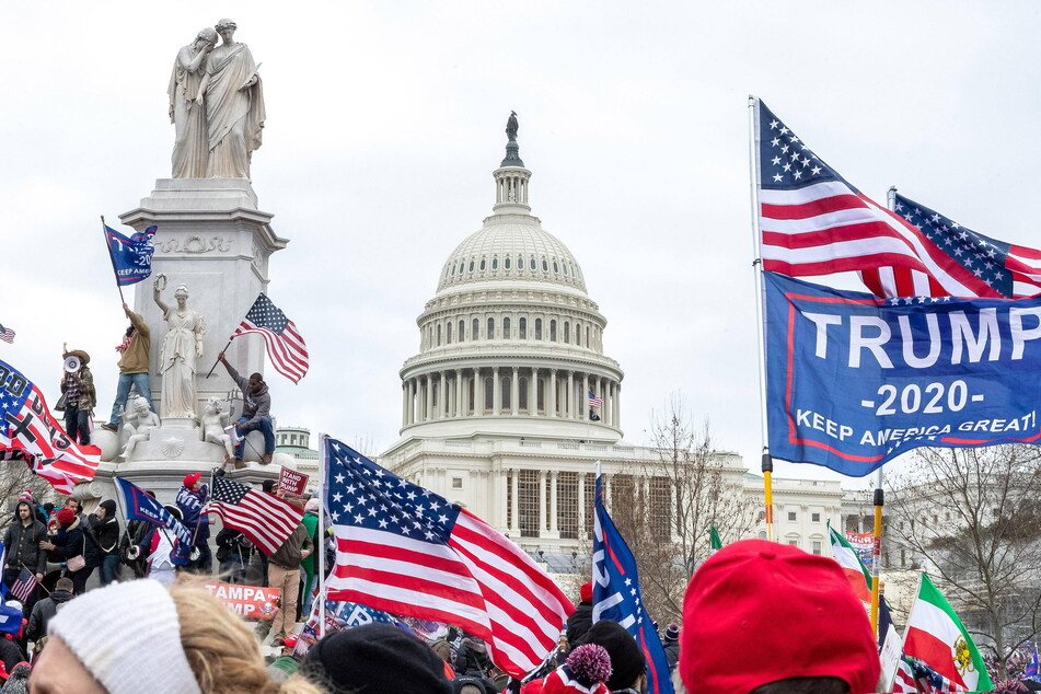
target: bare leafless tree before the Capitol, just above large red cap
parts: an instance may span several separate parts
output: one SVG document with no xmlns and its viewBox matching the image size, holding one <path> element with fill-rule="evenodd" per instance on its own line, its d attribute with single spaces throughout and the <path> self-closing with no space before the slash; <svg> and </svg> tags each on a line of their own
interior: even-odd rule
<svg viewBox="0 0 1041 694">
<path fill-rule="evenodd" d="M 636 474 L 613 475 L 609 508 L 636 556 L 644 601 L 659 622 L 680 621 L 683 593 L 709 555 L 709 533 L 739 539 L 755 524 L 743 469 L 728 469 L 708 423 L 695 426 L 679 394 L 651 414 L 651 454 Z"/>
</svg>

